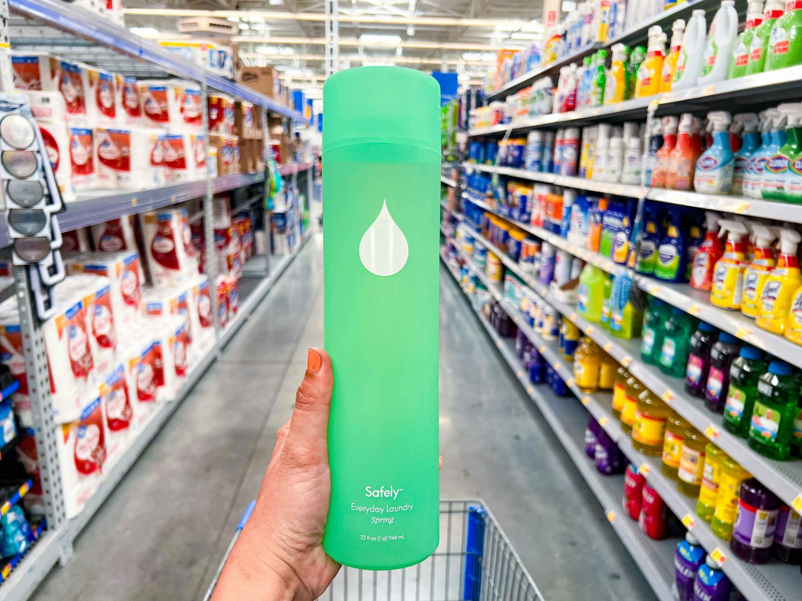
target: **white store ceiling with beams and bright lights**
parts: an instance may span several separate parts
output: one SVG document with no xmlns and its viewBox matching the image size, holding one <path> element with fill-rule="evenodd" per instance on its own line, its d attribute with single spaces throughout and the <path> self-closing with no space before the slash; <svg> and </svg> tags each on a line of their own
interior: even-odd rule
<svg viewBox="0 0 802 601">
<path fill-rule="evenodd" d="M 176 22 L 180 17 L 165 16 L 165 9 L 221 11 L 218 16 L 222 18 L 229 16 L 226 11 L 253 11 L 253 16 L 238 18 L 241 26 L 238 40 L 246 64 L 276 65 L 288 79 L 292 78 L 296 87 L 322 83 L 325 74 L 322 57 L 326 50 L 324 2 L 128 0 L 125 6 L 159 12 L 126 14 L 126 25 L 147 28 L 136 30 L 147 37 L 162 32 L 177 34 Z M 338 2 L 338 8 L 341 68 L 395 63 L 423 71 L 442 71 L 445 60 L 449 71 L 460 73 L 462 83 L 473 83 L 487 73 L 497 50 L 524 47 L 533 41 L 537 31 L 531 21 L 541 18 L 543 1 L 346 0 Z M 272 18 L 265 11 L 282 14 L 282 18 Z M 314 18 L 319 20 L 308 20 Z M 392 22 L 366 23 L 358 18 Z M 435 22 L 426 22 L 432 18 Z M 466 18 L 471 19 L 468 24 L 457 22 Z M 418 21 L 410 23 L 415 19 Z M 255 41 L 249 42 L 248 38 Z"/>
</svg>

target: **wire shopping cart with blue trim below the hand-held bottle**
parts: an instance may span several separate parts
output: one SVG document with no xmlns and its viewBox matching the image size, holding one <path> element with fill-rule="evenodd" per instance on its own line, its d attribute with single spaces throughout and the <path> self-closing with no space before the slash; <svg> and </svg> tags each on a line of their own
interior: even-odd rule
<svg viewBox="0 0 802 601">
<path fill-rule="evenodd" d="M 254 502 L 217 569 L 204 601 L 248 521 Z M 441 501 L 440 542 L 428 559 L 402 570 L 342 567 L 321 595 L 323 601 L 543 601 L 529 572 L 484 502 Z"/>
</svg>

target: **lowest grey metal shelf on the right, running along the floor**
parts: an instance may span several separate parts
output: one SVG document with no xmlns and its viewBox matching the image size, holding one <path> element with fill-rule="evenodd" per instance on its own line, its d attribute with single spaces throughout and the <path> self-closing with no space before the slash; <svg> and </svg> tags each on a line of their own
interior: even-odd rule
<svg viewBox="0 0 802 601">
<path fill-rule="evenodd" d="M 459 282 L 456 270 L 448 264 L 448 260 L 442 253 L 440 257 L 448 266 L 452 276 Z M 512 369 L 512 373 L 516 374 L 526 393 L 541 410 L 554 434 L 557 435 L 580 474 L 585 478 L 590 490 L 602 505 L 607 519 L 626 549 L 630 551 L 635 563 L 646 577 L 646 581 L 654 590 L 654 594 L 660 601 L 673 601 L 671 595 L 671 583 L 674 580 L 673 557 L 678 539 L 653 540 L 642 532 L 638 522 L 622 512 L 623 476 L 621 474 L 613 476 L 600 474 L 593 461 L 585 455 L 583 448 L 585 426 L 587 425 L 585 409 L 581 404 L 572 402 L 568 398 L 557 397 L 548 385 L 531 384 L 529 374 L 525 372 L 523 365 L 515 355 L 514 343 L 500 337 L 483 315 L 480 313 L 476 313 L 476 315 L 496 348 L 499 349 L 501 356 Z"/>
</svg>

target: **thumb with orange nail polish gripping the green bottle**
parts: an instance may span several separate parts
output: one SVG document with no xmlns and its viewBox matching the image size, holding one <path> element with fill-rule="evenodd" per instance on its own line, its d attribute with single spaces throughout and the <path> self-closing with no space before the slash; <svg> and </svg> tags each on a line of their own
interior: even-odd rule
<svg viewBox="0 0 802 601">
<path fill-rule="evenodd" d="M 334 376 L 323 349 L 309 349 L 306 374 L 295 393 L 295 410 L 282 456 L 296 465 L 328 462 L 328 429 Z"/>
</svg>

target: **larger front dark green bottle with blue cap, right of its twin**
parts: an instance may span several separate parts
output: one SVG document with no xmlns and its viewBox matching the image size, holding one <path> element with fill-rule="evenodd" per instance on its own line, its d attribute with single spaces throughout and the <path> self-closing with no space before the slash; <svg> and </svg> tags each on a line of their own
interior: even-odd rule
<svg viewBox="0 0 802 601">
<path fill-rule="evenodd" d="M 799 403 L 799 383 L 785 361 L 768 365 L 757 383 L 749 427 L 749 446 L 772 459 L 788 459 Z"/>
</svg>

